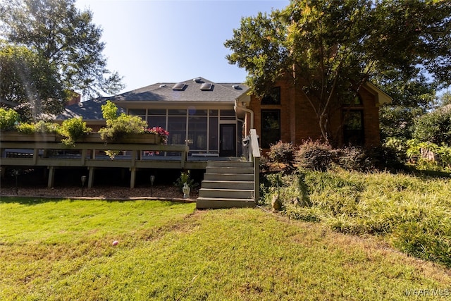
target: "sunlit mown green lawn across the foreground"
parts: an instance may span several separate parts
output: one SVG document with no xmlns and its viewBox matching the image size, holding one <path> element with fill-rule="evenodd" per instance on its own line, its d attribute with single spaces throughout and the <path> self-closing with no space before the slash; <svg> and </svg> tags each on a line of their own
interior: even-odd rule
<svg viewBox="0 0 451 301">
<path fill-rule="evenodd" d="M 0 300 L 411 300 L 451 271 L 261 209 L 2 198 Z M 118 240 L 117 246 L 111 245 Z M 433 297 L 426 296 L 426 299 Z"/>
</svg>

